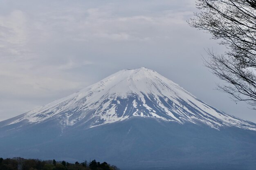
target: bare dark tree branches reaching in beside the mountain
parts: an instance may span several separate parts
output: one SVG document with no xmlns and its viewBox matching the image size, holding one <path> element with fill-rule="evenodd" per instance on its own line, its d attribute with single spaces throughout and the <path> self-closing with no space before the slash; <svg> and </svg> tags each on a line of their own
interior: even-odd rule
<svg viewBox="0 0 256 170">
<path fill-rule="evenodd" d="M 200 12 L 188 23 L 227 48 L 220 55 L 209 50 L 204 59 L 204 65 L 226 82 L 218 89 L 256 106 L 256 0 L 197 0 L 197 8 Z"/>
</svg>

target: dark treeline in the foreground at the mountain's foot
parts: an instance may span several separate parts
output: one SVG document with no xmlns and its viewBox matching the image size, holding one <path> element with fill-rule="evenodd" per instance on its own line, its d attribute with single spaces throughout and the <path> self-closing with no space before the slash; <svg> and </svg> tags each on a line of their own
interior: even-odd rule
<svg viewBox="0 0 256 170">
<path fill-rule="evenodd" d="M 97 162 L 95 159 L 91 162 L 69 163 L 66 161 L 39 159 L 0 158 L 0 170 L 119 170 L 116 166 L 103 162 Z"/>
</svg>

